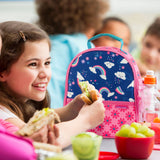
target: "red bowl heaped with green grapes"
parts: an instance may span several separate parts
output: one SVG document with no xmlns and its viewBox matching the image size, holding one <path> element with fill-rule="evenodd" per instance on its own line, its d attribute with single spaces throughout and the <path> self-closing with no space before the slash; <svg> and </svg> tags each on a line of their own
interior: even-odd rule
<svg viewBox="0 0 160 160">
<path fill-rule="evenodd" d="M 125 124 L 115 134 L 117 151 L 124 159 L 147 159 L 153 150 L 154 135 L 143 123 Z"/>
</svg>

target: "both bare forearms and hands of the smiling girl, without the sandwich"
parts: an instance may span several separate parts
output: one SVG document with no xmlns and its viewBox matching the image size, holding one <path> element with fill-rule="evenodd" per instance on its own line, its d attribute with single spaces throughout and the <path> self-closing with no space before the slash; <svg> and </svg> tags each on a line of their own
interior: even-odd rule
<svg viewBox="0 0 160 160">
<path fill-rule="evenodd" d="M 83 101 L 80 94 L 65 107 L 56 109 L 62 120 L 61 123 L 56 124 L 60 131 L 57 140 L 62 148 L 71 144 L 71 137 L 97 127 L 103 122 L 105 108 L 102 103 L 102 96 L 98 95 L 97 98 L 88 105 Z"/>
</svg>

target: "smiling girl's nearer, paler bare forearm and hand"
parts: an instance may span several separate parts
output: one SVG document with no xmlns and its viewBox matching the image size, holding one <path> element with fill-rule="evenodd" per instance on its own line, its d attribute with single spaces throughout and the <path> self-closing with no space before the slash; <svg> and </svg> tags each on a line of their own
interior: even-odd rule
<svg viewBox="0 0 160 160">
<path fill-rule="evenodd" d="M 75 119 L 56 124 L 60 131 L 58 143 L 62 148 L 67 147 L 71 144 L 71 137 L 98 126 L 103 122 L 104 116 L 105 108 L 101 99 L 91 105 L 84 105 Z"/>
</svg>

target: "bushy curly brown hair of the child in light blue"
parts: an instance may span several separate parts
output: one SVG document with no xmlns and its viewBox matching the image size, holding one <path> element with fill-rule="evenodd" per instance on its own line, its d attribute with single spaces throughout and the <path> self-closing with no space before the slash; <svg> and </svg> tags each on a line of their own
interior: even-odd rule
<svg viewBox="0 0 160 160">
<path fill-rule="evenodd" d="M 107 0 L 36 0 L 38 25 L 48 34 L 85 33 L 101 27 Z"/>
</svg>

